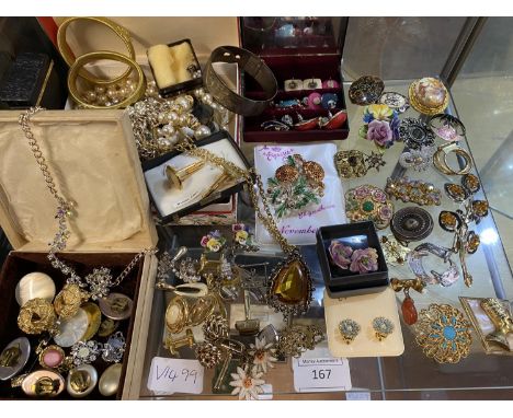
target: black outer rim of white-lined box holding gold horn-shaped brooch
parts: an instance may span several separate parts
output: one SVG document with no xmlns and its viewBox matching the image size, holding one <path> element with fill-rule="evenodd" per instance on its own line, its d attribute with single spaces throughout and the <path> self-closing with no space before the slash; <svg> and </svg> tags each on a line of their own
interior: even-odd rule
<svg viewBox="0 0 513 418">
<path fill-rule="evenodd" d="M 231 138 L 230 133 L 228 131 L 226 131 L 226 130 L 215 132 L 215 133 L 210 135 L 207 138 L 203 138 L 201 140 L 197 140 L 197 141 L 195 141 L 195 144 L 198 148 L 201 148 L 201 147 L 208 146 L 208 144 L 212 144 L 212 143 L 215 143 L 217 141 L 225 140 L 225 139 L 227 139 L 229 141 L 229 143 L 231 144 L 233 151 L 237 152 L 240 160 L 246 165 L 246 169 L 249 170 L 250 169 L 250 163 L 246 159 L 246 156 L 242 153 L 242 151 L 240 150 L 240 148 L 233 141 L 233 138 Z M 160 156 L 158 156 L 156 159 L 146 161 L 146 162 L 142 163 L 142 170 L 144 170 L 145 173 L 147 173 L 148 171 L 150 171 L 152 169 L 156 169 L 159 165 L 164 164 L 167 161 L 169 161 L 169 160 L 171 160 L 174 156 L 180 155 L 180 154 L 181 154 L 181 152 L 179 152 L 179 151 L 172 151 L 172 152 L 168 152 L 167 154 L 160 155 Z M 191 175 L 191 179 L 194 181 L 194 174 Z M 148 178 L 147 178 L 147 182 L 148 182 Z M 184 207 L 182 209 L 179 209 L 179 210 L 176 210 L 176 211 L 174 211 L 172 213 L 169 213 L 169 214 L 164 214 L 164 213 L 159 212 L 158 206 L 156 205 L 155 197 L 153 197 L 151 191 L 149 193 L 149 196 L 150 196 L 151 201 L 153 202 L 153 206 L 155 206 L 155 208 L 156 208 L 156 210 L 158 212 L 158 216 L 160 217 L 161 222 L 162 223 L 168 223 L 168 222 L 176 221 L 180 217 L 183 217 L 185 214 L 196 212 L 196 211 L 198 211 L 200 209 L 202 209 L 202 208 L 204 208 L 206 206 L 209 206 L 209 205 L 216 204 L 218 201 L 225 200 L 227 197 L 230 197 L 231 195 L 240 191 L 243 188 L 243 185 L 244 185 L 243 181 L 239 181 L 239 183 L 236 183 L 236 184 L 233 184 L 233 185 L 231 185 L 229 187 L 225 187 L 221 190 L 214 191 L 210 195 L 203 198 L 202 200 L 193 202 L 192 205 L 186 206 L 186 207 Z"/>
</svg>

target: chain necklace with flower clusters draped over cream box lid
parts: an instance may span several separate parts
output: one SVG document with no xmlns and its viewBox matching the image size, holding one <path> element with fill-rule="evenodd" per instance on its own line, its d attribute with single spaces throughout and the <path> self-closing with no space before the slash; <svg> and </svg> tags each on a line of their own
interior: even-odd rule
<svg viewBox="0 0 513 418">
<path fill-rule="evenodd" d="M 57 200 L 56 219 L 59 223 L 59 230 L 54 236 L 53 242 L 49 243 L 50 249 L 48 252 L 47 258 L 54 268 L 59 269 L 65 276 L 68 277 L 66 280 L 67 285 L 55 299 L 56 311 L 59 311 L 57 313 L 60 316 L 67 317 L 72 316 L 72 314 L 78 311 L 78 307 L 80 307 L 80 304 L 83 300 L 89 298 L 96 300 L 109 295 L 110 289 L 118 286 L 145 255 L 155 254 L 157 251 L 155 248 L 147 248 L 138 253 L 115 279 L 112 277 L 111 270 L 106 267 L 94 268 L 92 274 L 86 276 L 86 278 L 82 279 L 77 275 L 73 267 L 57 257 L 57 253 L 62 252 L 67 246 L 67 242 L 70 236 L 68 219 L 73 216 L 76 205 L 65 199 L 57 191 L 57 186 L 55 185 L 46 159 L 41 151 L 39 144 L 37 143 L 34 133 L 32 132 L 30 125 L 31 117 L 41 111 L 43 111 L 43 107 L 31 107 L 20 115 L 19 124 L 26 139 L 29 139 L 29 146 L 31 147 L 37 165 L 43 173 L 46 187 L 50 191 L 52 196 Z M 81 290 L 88 286 L 88 292 Z M 72 303 L 68 303 L 70 301 L 72 301 Z"/>
</svg>

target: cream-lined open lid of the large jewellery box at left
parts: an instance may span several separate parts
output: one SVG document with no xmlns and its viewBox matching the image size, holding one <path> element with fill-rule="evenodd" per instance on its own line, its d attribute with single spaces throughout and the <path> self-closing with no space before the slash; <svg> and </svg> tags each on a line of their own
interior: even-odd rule
<svg viewBox="0 0 513 418">
<path fill-rule="evenodd" d="M 0 227 L 12 247 L 47 251 L 58 230 L 47 189 L 18 123 L 0 112 Z M 124 111 L 44 111 L 31 118 L 58 193 L 76 202 L 67 251 L 138 252 L 157 243 L 132 125 Z"/>
</svg>

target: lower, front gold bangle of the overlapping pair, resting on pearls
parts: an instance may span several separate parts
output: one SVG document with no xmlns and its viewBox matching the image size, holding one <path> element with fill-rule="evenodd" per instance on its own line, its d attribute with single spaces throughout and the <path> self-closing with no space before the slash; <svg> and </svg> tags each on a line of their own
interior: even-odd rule
<svg viewBox="0 0 513 418">
<path fill-rule="evenodd" d="M 82 105 L 83 107 L 87 107 L 87 108 L 94 108 L 94 109 L 104 109 L 104 108 L 106 108 L 106 106 L 98 106 L 98 105 L 87 103 L 86 101 L 82 100 L 81 94 L 79 93 L 79 91 L 77 89 L 77 78 L 78 78 L 78 76 L 80 73 L 80 69 L 86 63 L 88 63 L 90 61 L 99 60 L 99 59 L 111 59 L 113 61 L 118 61 L 118 62 L 126 63 L 127 66 L 130 67 L 130 68 L 128 68 L 128 73 L 132 70 L 134 70 L 134 71 L 137 72 L 137 77 L 138 77 L 137 86 L 134 90 L 134 93 L 132 95 L 129 95 L 128 97 L 126 97 L 125 100 L 123 100 L 122 102 L 119 102 L 119 103 L 117 103 L 115 105 L 109 106 L 107 108 L 124 108 L 124 107 L 127 107 L 130 104 L 137 102 L 140 97 L 142 97 L 142 95 L 145 94 L 145 90 L 146 90 L 146 86 L 145 86 L 146 79 L 145 79 L 145 74 L 144 74 L 142 69 L 140 68 L 140 66 L 136 61 L 134 61 L 132 58 L 128 58 L 127 56 L 125 56 L 123 54 L 107 51 L 107 50 L 99 50 L 96 53 L 89 53 L 89 54 L 84 54 L 84 55 L 80 56 L 79 58 L 77 58 L 77 60 L 73 62 L 73 65 L 69 69 L 68 90 L 69 90 L 69 94 L 71 95 L 71 97 L 73 98 L 75 102 L 77 102 L 78 104 L 80 104 L 80 105 Z M 115 79 L 115 80 L 117 80 L 117 79 Z M 113 83 L 113 82 L 114 82 L 114 80 L 109 80 L 109 83 Z"/>
</svg>

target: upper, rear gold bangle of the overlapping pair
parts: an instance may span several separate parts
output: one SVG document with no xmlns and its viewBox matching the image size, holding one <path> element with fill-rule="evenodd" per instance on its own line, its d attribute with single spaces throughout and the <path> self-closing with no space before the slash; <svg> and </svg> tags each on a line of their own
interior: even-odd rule
<svg viewBox="0 0 513 418">
<path fill-rule="evenodd" d="M 125 44 L 126 48 L 128 49 L 128 54 L 126 56 L 128 56 L 129 58 L 135 60 L 134 45 L 132 45 L 130 35 L 129 35 L 128 31 L 125 27 L 119 26 L 117 23 L 115 23 L 115 22 L 113 22 L 113 21 L 111 21 L 110 19 L 106 19 L 106 18 L 91 18 L 91 16 L 80 18 L 80 16 L 78 16 L 78 18 L 69 18 L 69 19 L 65 20 L 60 24 L 60 26 L 59 26 L 59 28 L 57 31 L 57 47 L 59 48 L 60 55 L 62 56 L 64 60 L 66 61 L 66 63 L 69 67 L 71 67 L 75 63 L 77 58 L 75 57 L 73 51 L 71 50 L 68 43 L 66 42 L 66 32 L 67 32 L 68 26 L 70 25 L 70 23 L 76 22 L 76 21 L 95 22 L 95 23 L 100 23 L 102 25 L 107 26 Z M 117 76 L 116 78 L 111 79 L 111 80 L 101 79 L 101 78 L 94 76 L 93 73 L 91 73 L 90 71 L 88 71 L 86 69 L 81 69 L 79 74 L 80 74 L 80 77 L 82 77 L 83 79 L 86 79 L 86 80 L 88 80 L 88 81 L 90 81 L 92 83 L 110 84 L 110 83 L 115 83 L 117 81 L 121 81 L 121 80 L 125 79 L 129 73 L 130 73 L 130 69 L 128 68 L 125 72 L 123 72 L 123 74 Z"/>
</svg>

